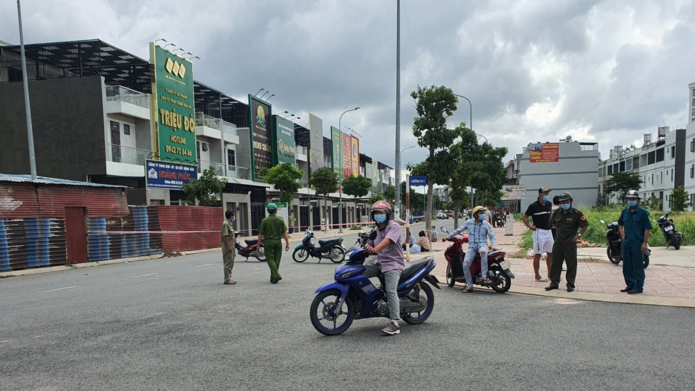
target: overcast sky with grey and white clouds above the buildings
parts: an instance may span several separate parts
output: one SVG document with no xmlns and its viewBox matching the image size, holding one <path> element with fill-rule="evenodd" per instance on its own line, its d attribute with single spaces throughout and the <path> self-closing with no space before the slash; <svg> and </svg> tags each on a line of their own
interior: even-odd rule
<svg viewBox="0 0 695 391">
<path fill-rule="evenodd" d="M 165 38 L 200 57 L 195 78 L 273 111 L 361 135 L 361 151 L 395 156 L 396 1 L 22 0 L 25 43 L 99 38 L 147 59 Z M 0 40 L 19 44 L 17 8 L 0 2 Z M 657 125 L 687 124 L 695 81 L 695 1 L 401 1 L 402 148 L 415 145 L 417 85 L 473 102 L 473 129 L 521 153 L 529 142 L 641 145 Z M 268 96 L 266 96 L 268 97 Z M 453 126 L 468 122 L 466 101 Z M 423 160 L 415 148 L 404 163 Z"/>
</svg>

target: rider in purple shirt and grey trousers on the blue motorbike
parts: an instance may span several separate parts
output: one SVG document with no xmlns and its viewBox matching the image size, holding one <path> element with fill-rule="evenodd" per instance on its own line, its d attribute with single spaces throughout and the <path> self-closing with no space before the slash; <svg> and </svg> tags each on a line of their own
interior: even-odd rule
<svg viewBox="0 0 695 391">
<path fill-rule="evenodd" d="M 367 264 L 364 276 L 367 278 L 384 276 L 386 301 L 389 304 L 391 322 L 382 331 L 389 335 L 400 333 L 398 319 L 400 318 L 400 301 L 398 299 L 398 281 L 405 268 L 402 251 L 400 225 L 391 219 L 391 206 L 386 201 L 377 201 L 370 209 L 370 215 L 377 223 L 377 238 L 369 240 L 365 249 L 377 254 L 374 260 Z"/>
</svg>

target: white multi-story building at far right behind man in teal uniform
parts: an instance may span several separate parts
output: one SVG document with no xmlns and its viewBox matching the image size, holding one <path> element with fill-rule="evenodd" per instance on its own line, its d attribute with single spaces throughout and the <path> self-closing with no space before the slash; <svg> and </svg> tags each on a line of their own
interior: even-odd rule
<svg viewBox="0 0 695 391">
<path fill-rule="evenodd" d="M 684 185 L 685 129 L 671 131 L 669 126 L 657 129 L 657 138 L 644 134 L 644 145 L 624 148 L 616 145 L 610 157 L 598 165 L 598 193 L 605 203 L 618 202 L 617 194 L 605 194 L 605 183 L 619 172 L 639 174 L 642 185 L 639 192 L 643 200 L 655 197 L 664 210 L 671 209 L 669 196 L 673 188 Z"/>
</svg>

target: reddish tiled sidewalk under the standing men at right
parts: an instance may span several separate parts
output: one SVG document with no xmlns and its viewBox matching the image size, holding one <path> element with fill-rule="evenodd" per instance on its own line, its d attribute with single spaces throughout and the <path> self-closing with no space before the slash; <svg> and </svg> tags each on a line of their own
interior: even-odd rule
<svg viewBox="0 0 695 391">
<path fill-rule="evenodd" d="M 494 228 L 495 235 L 499 248 L 507 250 L 507 254 L 518 252 L 518 242 L 521 241 L 521 235 L 526 230 L 523 224 L 514 224 L 514 235 L 505 236 L 505 228 Z M 436 268 L 432 274 L 438 276 L 441 282 L 445 281 L 446 260 L 443 251 L 448 247 L 449 243 L 437 242 L 433 244 L 433 252 L 436 259 Z M 466 247 L 464 247 L 464 250 Z M 664 299 L 695 299 L 695 247 L 681 247 L 680 250 L 666 249 L 665 247 L 655 247 L 652 249 L 651 264 L 645 270 L 646 281 L 644 286 L 644 294 L 642 297 L 652 297 L 651 299 L 626 299 L 628 295 L 620 293 L 619 290 L 625 288 L 623 280 L 622 263 L 618 266 L 613 265 L 607 260 L 605 247 L 584 247 L 578 251 L 584 257 L 592 258 L 591 260 L 580 259 L 577 270 L 576 291 L 572 293 L 565 292 L 564 294 L 573 297 L 576 292 L 591 292 L 589 298 L 582 297 L 582 294 L 575 294 L 575 299 L 588 299 L 602 301 L 619 301 L 619 302 L 640 302 L 644 303 L 660 303 L 656 298 Z M 512 264 L 512 272 L 516 278 L 512 280 L 512 292 L 515 288 L 520 288 L 527 294 L 539 294 L 543 296 L 555 297 L 558 296 L 558 291 L 546 292 L 543 288 L 548 286 L 547 282 L 537 282 L 534 280 L 533 260 L 532 258 L 507 258 Z M 541 276 L 546 276 L 546 263 L 544 258 L 541 259 Z M 563 273 L 564 276 L 564 273 Z M 561 287 L 564 288 L 564 283 L 561 281 Z M 521 289 L 524 288 L 524 289 Z M 531 290 L 529 290 L 531 289 Z M 481 288 L 485 290 L 485 288 Z M 598 295 L 597 295 L 598 294 Z M 680 302 L 676 300 L 677 302 Z M 663 300 L 663 305 L 671 305 Z M 692 301 L 695 306 L 695 301 Z"/>
</svg>

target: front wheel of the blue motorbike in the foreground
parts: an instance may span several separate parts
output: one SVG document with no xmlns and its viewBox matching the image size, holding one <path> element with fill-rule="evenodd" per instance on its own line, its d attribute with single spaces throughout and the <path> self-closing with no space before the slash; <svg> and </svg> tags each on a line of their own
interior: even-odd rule
<svg viewBox="0 0 695 391">
<path fill-rule="evenodd" d="M 321 292 L 311 301 L 309 318 L 316 331 L 324 335 L 343 333 L 354 320 L 354 305 L 352 300 L 345 299 L 340 315 L 334 315 L 341 299 L 341 291 L 337 289 Z"/>
</svg>

